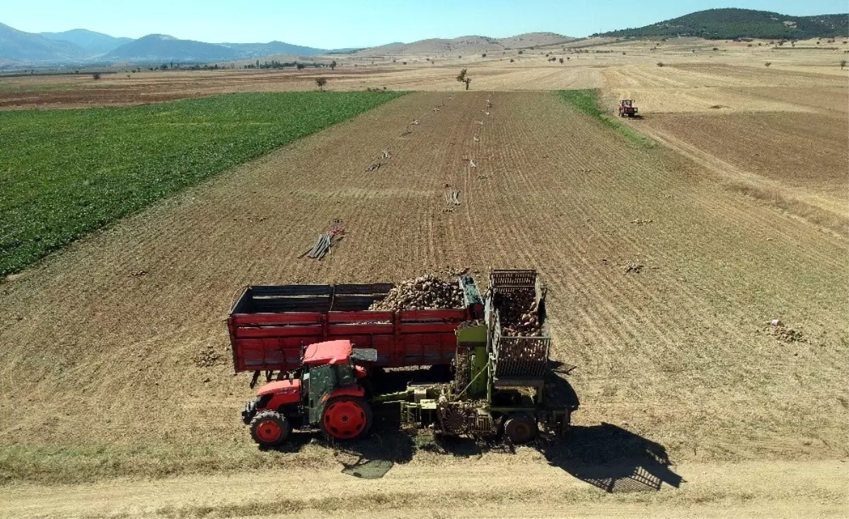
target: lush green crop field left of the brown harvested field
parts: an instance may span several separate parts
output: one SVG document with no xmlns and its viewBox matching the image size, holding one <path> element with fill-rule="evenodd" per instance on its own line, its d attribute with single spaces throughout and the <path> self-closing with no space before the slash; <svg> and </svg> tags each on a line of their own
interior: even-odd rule
<svg viewBox="0 0 849 519">
<path fill-rule="evenodd" d="M 247 93 L 130 108 L 0 112 L 0 275 L 401 95 Z"/>
</svg>

